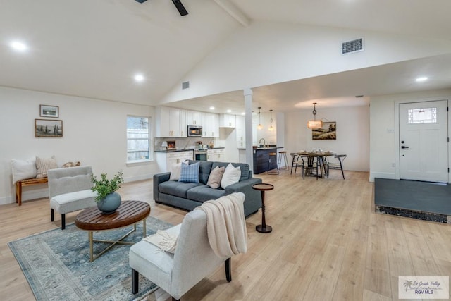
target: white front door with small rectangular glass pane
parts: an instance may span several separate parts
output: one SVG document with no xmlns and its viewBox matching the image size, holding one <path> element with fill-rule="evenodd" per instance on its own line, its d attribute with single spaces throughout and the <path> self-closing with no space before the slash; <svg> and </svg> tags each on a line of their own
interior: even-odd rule
<svg viewBox="0 0 451 301">
<path fill-rule="evenodd" d="M 400 178 L 448 182 L 447 100 L 400 104 Z"/>
</svg>

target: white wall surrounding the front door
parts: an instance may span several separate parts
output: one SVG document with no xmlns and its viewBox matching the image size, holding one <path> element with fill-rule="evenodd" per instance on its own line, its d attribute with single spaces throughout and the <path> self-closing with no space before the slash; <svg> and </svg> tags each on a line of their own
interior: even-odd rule
<svg viewBox="0 0 451 301">
<path fill-rule="evenodd" d="M 451 99 L 451 90 L 433 90 L 405 94 L 372 97 L 370 101 L 370 180 L 374 178 L 399 179 L 399 157 L 397 143 L 399 126 L 396 122 L 395 105 L 399 102 L 423 102 Z M 450 132 L 448 111 L 448 133 Z M 448 147 L 448 162 L 451 159 Z M 448 164 L 449 166 L 449 164 Z"/>
</svg>

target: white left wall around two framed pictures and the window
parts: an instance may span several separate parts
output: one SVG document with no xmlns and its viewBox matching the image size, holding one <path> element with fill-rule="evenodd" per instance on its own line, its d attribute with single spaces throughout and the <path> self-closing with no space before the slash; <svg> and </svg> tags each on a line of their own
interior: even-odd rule
<svg viewBox="0 0 451 301">
<path fill-rule="evenodd" d="M 35 137 L 35 118 L 42 118 L 39 104 L 59 106 L 63 137 Z M 0 204 L 15 202 L 11 159 L 54 155 L 60 166 L 80 161 L 91 165 L 97 175 L 112 175 L 122 169 L 126 181 L 151 178 L 155 164 L 125 164 L 126 117 L 153 114 L 152 106 L 0 87 Z M 47 185 L 23 191 L 24 200 L 47 195 Z"/>
</svg>

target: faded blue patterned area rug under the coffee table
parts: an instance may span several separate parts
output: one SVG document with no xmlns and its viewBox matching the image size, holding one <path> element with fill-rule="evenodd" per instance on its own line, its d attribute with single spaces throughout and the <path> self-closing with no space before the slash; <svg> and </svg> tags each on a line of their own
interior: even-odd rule
<svg viewBox="0 0 451 301">
<path fill-rule="evenodd" d="M 147 218 L 147 235 L 170 223 Z M 94 239 L 117 240 L 132 226 L 94 232 Z M 142 239 L 142 222 L 125 241 Z M 94 254 L 109 244 L 94 243 Z M 87 231 L 73 223 L 60 228 L 8 242 L 37 300 L 140 300 L 156 290 L 156 285 L 140 277 L 140 292 L 131 293 L 130 245 L 115 245 L 94 262 L 89 262 Z"/>
</svg>

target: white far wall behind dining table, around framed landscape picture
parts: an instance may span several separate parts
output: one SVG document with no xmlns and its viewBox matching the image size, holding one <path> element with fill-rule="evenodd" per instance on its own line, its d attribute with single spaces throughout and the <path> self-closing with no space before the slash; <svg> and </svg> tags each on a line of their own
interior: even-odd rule
<svg viewBox="0 0 451 301">
<path fill-rule="evenodd" d="M 285 150 L 290 153 L 321 148 L 347 154 L 346 170 L 369 171 L 369 107 L 316 107 L 316 111 L 317 119 L 337 122 L 337 140 L 312 140 L 307 128 L 307 121 L 313 118 L 311 111 L 290 112 L 285 113 Z"/>
</svg>

